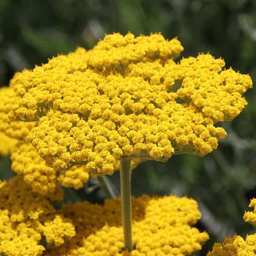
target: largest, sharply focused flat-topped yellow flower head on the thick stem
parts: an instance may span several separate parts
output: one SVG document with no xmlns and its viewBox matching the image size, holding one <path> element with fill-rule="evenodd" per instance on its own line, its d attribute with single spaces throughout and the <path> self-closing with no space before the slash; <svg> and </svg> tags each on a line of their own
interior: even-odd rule
<svg viewBox="0 0 256 256">
<path fill-rule="evenodd" d="M 210 54 L 174 62 L 182 50 L 161 34 L 106 35 L 92 50 L 16 73 L 9 118 L 39 121 L 27 138 L 55 170 L 112 174 L 125 157 L 204 156 L 226 136 L 214 125 L 247 104 L 252 80 Z"/>
</svg>

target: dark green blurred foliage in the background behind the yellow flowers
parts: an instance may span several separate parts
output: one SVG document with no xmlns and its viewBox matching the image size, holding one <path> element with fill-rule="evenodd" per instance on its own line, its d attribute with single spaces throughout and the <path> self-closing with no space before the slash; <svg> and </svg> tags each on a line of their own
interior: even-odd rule
<svg viewBox="0 0 256 256">
<path fill-rule="evenodd" d="M 129 30 L 136 36 L 178 36 L 182 56 L 209 51 L 216 58 L 222 56 L 227 67 L 256 80 L 255 0 L 0 0 L 0 84 L 8 85 L 14 72 L 45 63 L 58 53 L 67 54 L 77 46 L 90 49 L 105 33 Z M 135 196 L 172 193 L 198 201 L 198 228 L 211 237 L 198 255 L 206 255 L 214 241 L 255 232 L 242 218 L 256 196 L 256 92 L 249 90 L 245 96 L 249 104 L 242 114 L 218 124 L 228 136 L 217 150 L 204 158 L 178 155 L 167 163 L 144 162 L 132 172 Z M 117 195 L 118 175 L 109 177 Z M 2 157 L 0 178 L 10 176 L 10 160 Z M 66 202 L 104 199 L 95 180 L 65 192 Z"/>
</svg>

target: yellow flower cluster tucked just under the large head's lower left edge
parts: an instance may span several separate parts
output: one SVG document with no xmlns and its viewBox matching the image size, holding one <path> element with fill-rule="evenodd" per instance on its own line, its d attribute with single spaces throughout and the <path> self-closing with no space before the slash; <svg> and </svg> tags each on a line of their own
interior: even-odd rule
<svg viewBox="0 0 256 256">
<path fill-rule="evenodd" d="M 12 170 L 22 175 L 24 182 L 29 184 L 34 192 L 49 198 L 54 196 L 52 200 L 62 200 L 60 186 L 78 189 L 89 179 L 84 166 L 74 166 L 59 175 L 53 168 L 46 166 L 44 159 L 38 156 L 30 143 L 17 144 L 12 150 L 11 160 Z"/>
</svg>

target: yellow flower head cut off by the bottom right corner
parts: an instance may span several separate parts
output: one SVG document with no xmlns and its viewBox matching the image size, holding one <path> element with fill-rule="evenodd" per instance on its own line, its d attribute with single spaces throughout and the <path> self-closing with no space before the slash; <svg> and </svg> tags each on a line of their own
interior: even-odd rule
<svg viewBox="0 0 256 256">
<path fill-rule="evenodd" d="M 249 204 L 253 212 L 244 213 L 244 221 L 256 226 L 256 199 L 253 198 Z M 256 234 L 247 235 L 244 240 L 241 236 L 234 235 L 226 238 L 223 244 L 215 243 L 212 252 L 207 256 L 256 256 Z"/>
</svg>

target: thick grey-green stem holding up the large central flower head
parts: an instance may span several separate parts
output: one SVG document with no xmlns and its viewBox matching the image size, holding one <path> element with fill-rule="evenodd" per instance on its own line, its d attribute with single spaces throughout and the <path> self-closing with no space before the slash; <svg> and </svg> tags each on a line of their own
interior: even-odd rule
<svg viewBox="0 0 256 256">
<path fill-rule="evenodd" d="M 124 250 L 131 252 L 132 246 L 132 200 L 131 200 L 131 160 L 120 159 L 120 184 L 122 202 L 122 224 L 124 231 Z"/>
</svg>

